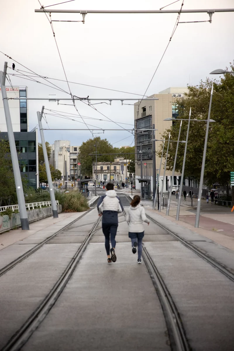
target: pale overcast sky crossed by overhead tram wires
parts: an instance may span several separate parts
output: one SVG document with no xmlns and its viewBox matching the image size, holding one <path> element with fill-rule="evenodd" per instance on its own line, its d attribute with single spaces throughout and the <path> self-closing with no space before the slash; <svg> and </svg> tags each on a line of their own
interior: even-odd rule
<svg viewBox="0 0 234 351">
<path fill-rule="evenodd" d="M 62 0 L 61 0 L 62 1 Z M 44 0 L 43 5 L 52 5 L 59 1 Z M 53 6 L 55 9 L 159 9 L 170 4 L 170 0 L 119 0 L 118 2 L 79 1 Z M 165 9 L 179 9 L 181 1 Z M 232 8 L 233 0 L 185 0 L 183 9 Z M 37 74 L 65 80 L 59 54 L 55 45 L 49 21 L 44 13 L 35 13 L 40 8 L 37 0 L 11 0 L 1 5 L 0 22 L 2 28 L 0 50 L 13 60 L 0 53 L 0 69 L 4 61 L 11 66 L 14 60 Z M 181 14 L 180 21 L 208 20 L 208 14 Z M 177 14 L 87 14 L 82 22 L 53 22 L 62 62 L 69 81 L 95 85 L 109 89 L 143 94 L 152 78 L 162 53 L 171 36 Z M 80 14 L 52 14 L 54 20 L 81 20 Z M 229 65 L 234 59 L 234 12 L 215 13 L 212 24 L 179 24 L 165 56 L 147 91 L 147 95 L 158 93 L 169 86 L 198 84 L 206 77 L 213 78 L 209 72 Z M 16 69 L 27 71 L 16 64 Z M 8 73 L 13 73 L 8 69 Z M 27 74 L 27 73 L 25 73 Z M 23 78 L 11 77 L 15 86 L 28 86 L 28 97 L 68 97 L 66 93 L 56 91 L 45 85 Z M 218 78 L 219 76 L 215 76 Z M 35 78 L 37 79 L 37 78 Z M 41 80 L 43 81 L 43 80 Z M 51 80 L 65 91 L 66 82 Z M 47 84 L 47 82 L 45 82 Z M 71 92 L 79 97 L 126 98 L 135 97 L 127 93 L 118 93 L 77 84 L 69 84 Z M 61 101 L 62 102 L 62 101 Z M 96 101 L 97 102 L 97 101 Z M 72 104 L 72 102 L 62 102 Z M 130 102 L 133 103 L 133 102 Z M 29 101 L 29 130 L 37 124 L 36 111 L 42 104 L 45 108 L 77 114 L 74 106 L 57 105 L 48 101 Z M 82 102 L 76 103 L 82 116 L 107 119 L 93 108 Z M 95 107 L 109 119 L 129 123 L 133 126 L 133 106 L 112 102 Z M 49 113 L 49 111 L 46 111 Z M 47 115 L 50 128 L 86 128 L 81 118 L 70 121 Z M 105 128 L 120 128 L 113 122 L 85 119 L 86 123 Z M 43 122 L 44 127 L 46 123 Z M 131 125 L 123 127 L 131 128 Z M 90 127 L 90 126 L 89 126 Z M 91 128 L 91 127 L 90 127 Z M 114 146 L 130 145 L 133 136 L 126 131 L 97 134 L 106 137 Z M 119 141 L 120 139 L 126 138 Z M 71 145 L 80 145 L 92 137 L 89 131 L 45 131 L 49 143 L 54 140 L 71 140 Z M 39 137 L 40 138 L 40 137 Z M 118 142 L 119 141 L 119 142 Z M 118 143 L 116 143 L 118 142 Z M 134 145 L 134 144 L 133 144 Z"/>
</svg>

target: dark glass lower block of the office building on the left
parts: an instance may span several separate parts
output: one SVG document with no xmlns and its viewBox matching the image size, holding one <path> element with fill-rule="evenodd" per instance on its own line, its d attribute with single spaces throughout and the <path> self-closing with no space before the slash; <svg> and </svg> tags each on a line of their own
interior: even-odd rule
<svg viewBox="0 0 234 351">
<path fill-rule="evenodd" d="M 0 138 L 8 140 L 1 132 Z M 14 132 L 21 177 L 27 177 L 29 185 L 36 188 L 36 132 Z"/>
</svg>

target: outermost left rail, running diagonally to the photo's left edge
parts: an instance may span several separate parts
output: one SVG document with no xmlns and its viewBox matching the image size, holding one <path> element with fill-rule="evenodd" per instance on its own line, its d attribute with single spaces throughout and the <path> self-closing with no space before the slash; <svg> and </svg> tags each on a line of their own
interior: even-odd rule
<svg viewBox="0 0 234 351">
<path fill-rule="evenodd" d="M 24 260 L 25 258 L 27 258 L 28 256 L 30 256 L 33 252 L 37 251 L 38 249 L 40 249 L 40 247 L 42 247 L 44 244 L 46 244 L 49 240 L 53 239 L 56 235 L 58 235 L 59 233 L 63 232 L 65 229 L 67 229 L 70 225 L 72 225 L 73 223 L 75 223 L 76 221 L 78 221 L 80 218 L 84 217 L 87 213 L 89 213 L 90 211 L 92 211 L 93 208 L 91 208 L 90 210 L 88 210 L 86 213 L 83 213 L 79 218 L 74 219 L 71 223 L 67 224 L 65 227 L 63 227 L 62 229 L 60 229 L 58 232 L 52 234 L 50 237 L 46 238 L 45 240 L 41 241 L 41 243 L 39 243 L 38 245 L 34 246 L 32 249 L 28 250 L 27 252 L 25 252 L 24 254 L 22 254 L 20 257 L 16 258 L 14 261 L 12 261 L 11 263 L 9 263 L 8 265 L 6 265 L 5 267 L 3 267 L 2 269 L 0 269 L 0 277 L 2 276 L 2 274 L 6 273 L 7 271 L 9 271 L 10 269 L 12 269 L 16 264 L 20 263 L 22 260 Z"/>
</svg>

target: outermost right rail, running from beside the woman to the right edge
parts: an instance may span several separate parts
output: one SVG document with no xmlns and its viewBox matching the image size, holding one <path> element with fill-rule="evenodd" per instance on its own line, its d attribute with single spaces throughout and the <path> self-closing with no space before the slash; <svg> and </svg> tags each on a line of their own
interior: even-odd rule
<svg viewBox="0 0 234 351">
<path fill-rule="evenodd" d="M 221 273 L 223 273 L 226 277 L 228 277 L 230 280 L 232 280 L 232 282 L 234 282 L 234 273 L 232 273 L 231 271 L 229 271 L 225 266 L 223 266 L 222 264 L 220 264 L 219 262 L 217 262 L 215 259 L 213 259 L 212 257 L 208 256 L 207 254 L 203 253 L 202 251 L 200 251 L 199 249 L 197 249 L 195 246 L 193 246 L 192 244 L 188 243 L 186 240 L 180 238 L 177 234 L 173 233 L 171 230 L 169 230 L 168 228 L 166 228 L 163 224 L 158 223 L 154 218 L 148 216 L 148 214 L 146 214 L 146 217 L 148 217 L 150 220 L 152 220 L 152 222 L 154 222 L 156 225 L 158 225 L 159 227 L 161 227 L 162 229 L 164 229 L 166 232 L 168 232 L 168 234 L 170 234 L 172 237 L 174 237 L 176 240 L 180 241 L 180 243 L 182 243 L 183 245 L 185 245 L 188 249 L 192 250 L 193 252 L 195 252 L 199 257 L 203 258 L 205 261 L 207 261 L 210 265 L 212 265 L 213 267 L 215 267 L 216 269 L 218 269 Z"/>
</svg>

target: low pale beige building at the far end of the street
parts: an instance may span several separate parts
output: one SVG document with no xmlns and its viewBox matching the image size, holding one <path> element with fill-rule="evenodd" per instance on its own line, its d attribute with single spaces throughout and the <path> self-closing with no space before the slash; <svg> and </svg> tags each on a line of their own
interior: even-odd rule
<svg viewBox="0 0 234 351">
<path fill-rule="evenodd" d="M 114 162 L 98 162 L 97 163 L 97 182 L 102 182 L 106 179 L 106 182 L 114 181 L 119 183 L 127 183 L 126 178 L 129 178 L 129 172 L 127 171 L 128 162 L 131 160 L 125 160 L 123 158 L 116 158 Z M 93 179 L 96 179 L 96 163 L 93 162 Z M 129 178 L 129 184 L 131 177 Z"/>
</svg>

